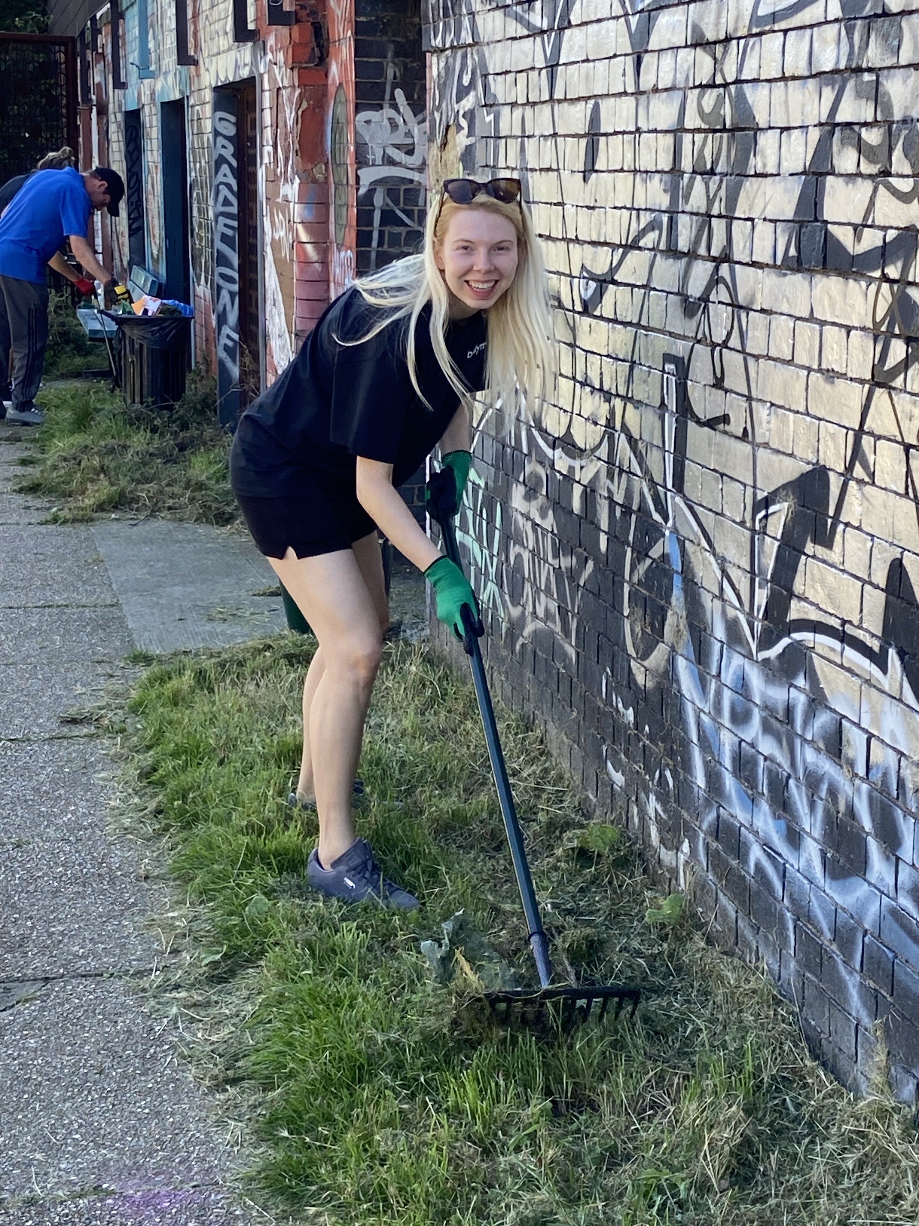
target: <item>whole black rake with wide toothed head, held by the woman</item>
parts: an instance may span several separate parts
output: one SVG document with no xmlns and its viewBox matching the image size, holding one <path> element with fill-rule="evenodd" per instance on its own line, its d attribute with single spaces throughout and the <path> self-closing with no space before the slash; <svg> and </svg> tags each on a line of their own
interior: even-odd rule
<svg viewBox="0 0 919 1226">
<path fill-rule="evenodd" d="M 440 525 L 442 543 L 447 558 L 456 563 L 462 570 L 460 549 L 453 530 L 452 508 L 456 505 L 455 477 L 450 468 L 441 468 L 440 472 L 431 473 L 428 482 L 429 501 L 428 508 L 433 519 Z M 533 953 L 537 975 L 539 976 L 539 988 L 509 988 L 485 993 L 485 1000 L 491 1009 L 496 1021 L 520 1021 L 524 1026 L 538 1026 L 548 1018 L 555 1018 L 564 1031 L 584 1022 L 591 1015 L 596 1020 L 602 1020 L 610 1011 L 614 1020 L 619 1018 L 624 1009 L 630 1016 L 635 1016 L 638 1007 L 641 989 L 627 987 L 621 983 L 613 984 L 553 984 L 553 967 L 549 959 L 549 940 L 543 929 L 539 916 L 539 904 L 533 889 L 533 878 L 529 873 L 529 863 L 523 847 L 523 832 L 517 820 L 517 810 L 513 805 L 511 785 L 507 779 L 501 742 L 497 737 L 497 723 L 495 711 L 491 705 L 488 680 L 485 678 L 485 666 L 479 650 L 479 639 L 485 633 L 482 622 L 473 614 L 468 604 L 461 609 L 463 619 L 463 646 L 469 656 L 472 679 L 475 687 L 475 698 L 479 704 L 479 714 L 485 729 L 485 742 L 488 755 L 491 761 L 491 774 L 495 779 L 497 799 L 501 805 L 501 817 L 507 835 L 507 843 L 513 861 L 513 872 L 520 886 L 523 915 L 527 921 L 529 948 Z M 594 1005 L 597 1007 L 594 1009 Z"/>
</svg>

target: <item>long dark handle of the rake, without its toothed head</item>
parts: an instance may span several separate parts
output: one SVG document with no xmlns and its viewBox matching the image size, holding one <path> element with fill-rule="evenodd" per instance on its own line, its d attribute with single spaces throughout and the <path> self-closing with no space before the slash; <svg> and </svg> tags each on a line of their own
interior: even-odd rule
<svg viewBox="0 0 919 1226">
<path fill-rule="evenodd" d="M 453 530 L 452 519 L 448 515 L 445 515 L 442 521 L 437 519 L 437 524 L 440 525 L 440 531 L 444 537 L 444 548 L 446 549 L 447 558 L 456 563 L 456 565 L 462 570 L 463 564 L 460 559 L 460 548 L 456 543 L 456 532 Z M 491 760 L 491 774 L 495 777 L 497 799 L 501 805 L 501 817 L 504 818 L 504 829 L 507 835 L 507 843 L 511 848 L 511 859 L 513 861 L 513 872 L 517 877 L 517 885 L 520 886 L 523 913 L 527 918 L 529 946 L 533 950 L 533 959 L 537 965 L 539 983 L 542 987 L 546 988 L 551 983 L 553 977 L 551 962 L 549 961 L 549 943 L 545 938 L 543 923 L 539 917 L 539 904 L 537 902 L 535 891 L 533 890 L 533 878 L 529 874 L 527 853 L 523 847 L 523 832 L 520 828 L 520 821 L 517 820 L 517 810 L 513 807 L 511 785 L 507 779 L 507 767 L 501 750 L 501 742 L 497 737 L 495 710 L 491 705 L 491 694 L 489 693 L 488 680 L 485 679 L 485 664 L 482 660 L 479 640 L 473 630 L 474 619 L 472 609 L 469 609 L 467 604 L 462 608 L 462 617 L 463 628 L 466 630 L 463 645 L 467 655 L 469 656 L 472 679 L 475 685 L 475 698 L 479 702 L 482 725 L 485 729 L 488 755 Z"/>
</svg>

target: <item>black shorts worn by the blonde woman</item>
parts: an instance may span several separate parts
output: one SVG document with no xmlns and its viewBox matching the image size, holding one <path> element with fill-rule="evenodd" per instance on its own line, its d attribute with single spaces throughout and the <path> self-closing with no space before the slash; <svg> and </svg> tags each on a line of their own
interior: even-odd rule
<svg viewBox="0 0 919 1226">
<path fill-rule="evenodd" d="M 337 553 L 376 531 L 374 521 L 360 508 L 348 522 L 332 527 L 327 515 L 322 514 L 325 506 L 317 508 L 309 495 L 250 498 L 236 494 L 236 501 L 252 539 L 266 558 L 283 558 L 288 549 L 293 549 L 298 558 Z"/>
</svg>

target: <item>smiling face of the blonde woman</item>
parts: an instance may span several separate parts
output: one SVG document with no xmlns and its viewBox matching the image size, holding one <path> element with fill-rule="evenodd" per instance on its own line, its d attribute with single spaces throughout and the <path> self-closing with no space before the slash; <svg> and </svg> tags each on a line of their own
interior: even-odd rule
<svg viewBox="0 0 919 1226">
<path fill-rule="evenodd" d="M 494 306 L 517 272 L 513 222 L 489 208 L 451 211 L 434 259 L 450 291 L 450 318 L 466 319 Z"/>
</svg>

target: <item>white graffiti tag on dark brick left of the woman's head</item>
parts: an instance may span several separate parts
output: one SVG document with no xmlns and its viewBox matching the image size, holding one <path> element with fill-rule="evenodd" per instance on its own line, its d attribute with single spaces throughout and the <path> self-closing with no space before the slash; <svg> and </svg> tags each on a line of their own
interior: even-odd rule
<svg viewBox="0 0 919 1226">
<path fill-rule="evenodd" d="M 395 105 L 388 98 L 392 83 L 392 50 L 390 44 L 386 102 L 382 107 L 360 110 L 354 118 L 358 199 L 369 196 L 374 206 L 370 237 L 371 268 L 376 267 L 384 211 L 395 213 L 408 229 L 417 229 L 417 219 L 406 213 L 404 205 L 410 199 L 413 207 L 424 208 L 428 178 L 428 125 L 424 114 L 415 115 L 404 92 L 398 87 L 393 91 Z"/>
</svg>

